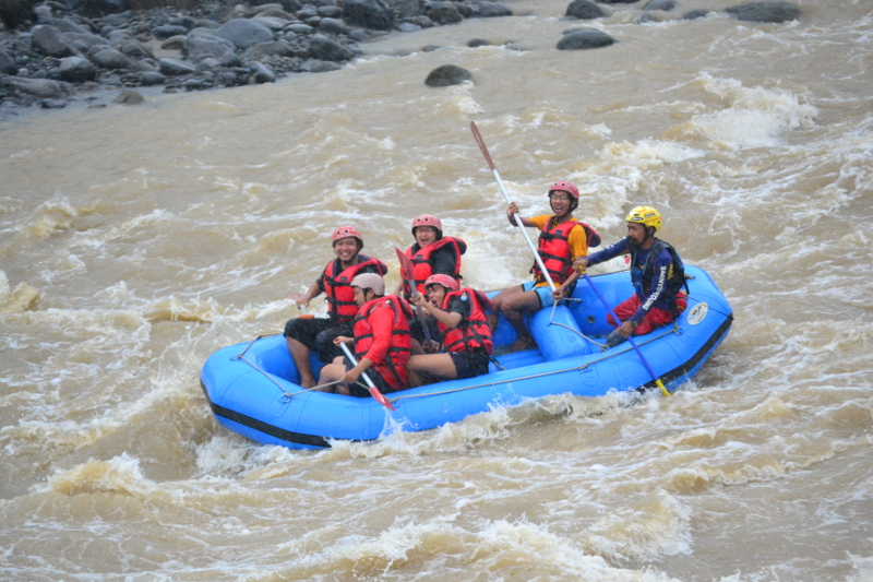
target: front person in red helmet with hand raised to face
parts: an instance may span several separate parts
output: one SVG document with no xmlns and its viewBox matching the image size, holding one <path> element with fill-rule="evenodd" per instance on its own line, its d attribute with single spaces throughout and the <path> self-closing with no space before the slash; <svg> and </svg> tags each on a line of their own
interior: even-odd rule
<svg viewBox="0 0 873 582">
<path fill-rule="evenodd" d="M 454 277 L 431 275 L 424 282 L 428 296 L 416 296 L 416 304 L 436 320 L 447 353 L 410 357 L 406 365 L 410 387 L 488 373 L 494 349 L 488 325 L 491 301 L 481 292 L 458 287 Z"/>
</svg>

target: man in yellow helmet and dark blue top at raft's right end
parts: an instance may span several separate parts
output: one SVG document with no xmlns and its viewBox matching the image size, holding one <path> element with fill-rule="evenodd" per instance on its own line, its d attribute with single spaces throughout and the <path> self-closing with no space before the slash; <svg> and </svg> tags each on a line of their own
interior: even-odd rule
<svg viewBox="0 0 873 582">
<path fill-rule="evenodd" d="M 687 301 L 682 287 L 685 268 L 675 249 L 655 237 L 660 230 L 661 215 L 651 206 L 637 206 L 627 214 L 627 236 L 614 245 L 588 257 L 579 257 L 573 265 L 585 268 L 608 261 L 620 254 L 631 254 L 631 283 L 634 295 L 613 310 L 621 323 L 609 316 L 618 329 L 607 336 L 607 347 L 613 347 L 631 335 L 644 335 L 655 328 L 670 323 L 685 310 Z"/>
</svg>

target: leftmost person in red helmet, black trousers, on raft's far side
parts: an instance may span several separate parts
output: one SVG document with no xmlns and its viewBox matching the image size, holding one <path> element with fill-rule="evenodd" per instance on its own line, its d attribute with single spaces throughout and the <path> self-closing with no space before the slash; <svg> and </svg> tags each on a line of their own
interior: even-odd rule
<svg viewBox="0 0 873 582">
<path fill-rule="evenodd" d="M 375 273 L 382 276 L 388 271 L 387 265 L 379 259 L 360 253 L 363 238 L 354 226 L 340 226 L 334 230 L 331 240 L 336 259 L 327 263 L 315 283 L 297 299 L 298 308 L 306 308 L 314 297 L 324 293 L 327 296 L 328 317 L 295 318 L 285 324 L 285 340 L 300 373 L 302 388 L 315 385 L 309 359 L 310 352 L 315 351 L 322 364 L 330 364 L 336 356 L 343 354 L 342 349 L 334 345 L 334 338 L 339 335 L 351 335 L 351 322 L 358 313 L 351 281 L 360 273 Z"/>
</svg>

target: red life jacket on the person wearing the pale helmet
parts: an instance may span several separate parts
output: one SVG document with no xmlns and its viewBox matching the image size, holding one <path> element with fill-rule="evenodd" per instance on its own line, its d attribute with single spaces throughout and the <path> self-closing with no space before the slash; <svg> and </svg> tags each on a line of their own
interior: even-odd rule
<svg viewBox="0 0 873 582">
<path fill-rule="evenodd" d="M 364 357 L 372 347 L 374 337 L 370 316 L 381 307 L 394 311 L 394 329 L 385 358 L 381 363 L 373 363 L 372 368 L 385 379 L 391 388 L 404 390 L 409 385 L 406 379 L 406 363 L 412 355 L 412 338 L 409 335 L 409 318 L 412 317 L 412 308 L 409 307 L 406 299 L 396 295 L 387 295 L 361 306 L 352 325 L 355 355 L 360 361 L 360 358 Z"/>
</svg>

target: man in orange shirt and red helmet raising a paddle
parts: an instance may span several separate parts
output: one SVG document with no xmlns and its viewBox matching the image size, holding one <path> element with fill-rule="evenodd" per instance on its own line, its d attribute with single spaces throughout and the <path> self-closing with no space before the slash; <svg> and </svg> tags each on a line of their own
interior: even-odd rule
<svg viewBox="0 0 873 582">
<path fill-rule="evenodd" d="M 555 289 L 552 292 L 546 275 L 535 262 L 530 269 L 534 280 L 497 295 L 493 298 L 494 310 L 489 316 L 492 331 L 497 328 L 498 314 L 501 312 L 512 324 L 517 335 L 512 346 L 513 351 L 526 349 L 534 343 L 534 338 L 525 328 L 524 313 L 551 307 L 572 293 L 576 280 L 571 277 L 573 260 L 576 257 L 587 256 L 588 247 L 600 245 L 600 235 L 597 230 L 573 217 L 573 211 L 579 204 L 579 191 L 573 182 L 567 180 L 554 182 L 549 188 L 548 195 L 553 214 L 534 218 L 522 217 L 522 224 L 539 229 L 537 252 Z M 518 214 L 518 206 L 512 202 L 506 210 L 506 216 L 513 226 L 515 226 L 514 214 Z"/>
</svg>

